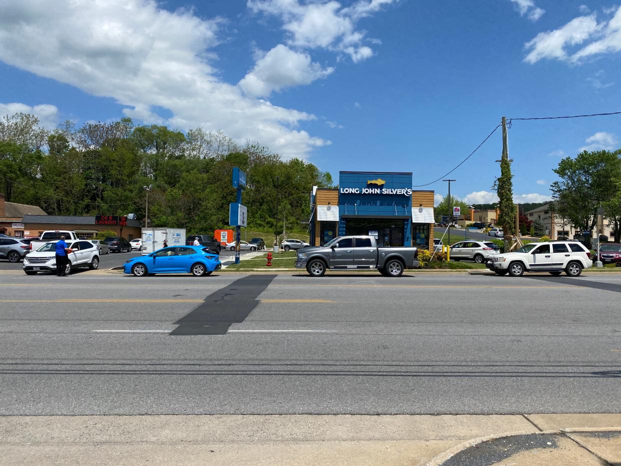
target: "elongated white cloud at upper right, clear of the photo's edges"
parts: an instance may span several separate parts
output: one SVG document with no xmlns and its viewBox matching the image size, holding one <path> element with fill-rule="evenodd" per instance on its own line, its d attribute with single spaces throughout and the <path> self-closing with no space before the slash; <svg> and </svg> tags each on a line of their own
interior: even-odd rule
<svg viewBox="0 0 621 466">
<path fill-rule="evenodd" d="M 592 14 L 574 18 L 560 29 L 540 32 L 535 39 L 525 44 L 530 52 L 524 60 L 528 63 L 537 63 L 543 58 L 569 60 L 565 47 L 584 42 L 598 29 L 595 14 Z"/>
</svg>

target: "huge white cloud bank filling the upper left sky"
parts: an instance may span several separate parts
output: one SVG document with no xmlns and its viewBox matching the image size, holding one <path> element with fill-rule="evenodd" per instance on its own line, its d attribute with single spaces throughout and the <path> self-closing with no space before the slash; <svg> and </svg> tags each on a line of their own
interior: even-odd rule
<svg viewBox="0 0 621 466">
<path fill-rule="evenodd" d="M 315 117 L 248 98 L 211 65 L 222 20 L 169 12 L 152 0 L 0 2 L 0 60 L 106 96 L 145 122 L 222 129 L 260 141 L 284 157 L 306 157 L 329 141 L 299 129 Z"/>
</svg>

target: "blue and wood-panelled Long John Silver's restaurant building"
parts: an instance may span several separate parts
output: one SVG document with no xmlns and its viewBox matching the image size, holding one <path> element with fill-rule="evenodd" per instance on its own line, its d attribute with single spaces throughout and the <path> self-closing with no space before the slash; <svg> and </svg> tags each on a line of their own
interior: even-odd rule
<svg viewBox="0 0 621 466">
<path fill-rule="evenodd" d="M 311 245 L 371 235 L 381 247 L 433 245 L 433 191 L 412 190 L 411 172 L 340 171 L 338 188 L 313 188 Z"/>
</svg>

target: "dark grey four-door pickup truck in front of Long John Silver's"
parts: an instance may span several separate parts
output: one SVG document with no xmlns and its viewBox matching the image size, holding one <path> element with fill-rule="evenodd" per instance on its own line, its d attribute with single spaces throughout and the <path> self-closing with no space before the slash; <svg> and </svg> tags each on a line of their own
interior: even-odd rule
<svg viewBox="0 0 621 466">
<path fill-rule="evenodd" d="M 401 276 L 406 268 L 419 266 L 415 247 L 378 247 L 373 236 L 339 236 L 321 247 L 297 251 L 296 268 L 312 276 L 326 270 L 377 269 L 384 276 Z"/>
</svg>

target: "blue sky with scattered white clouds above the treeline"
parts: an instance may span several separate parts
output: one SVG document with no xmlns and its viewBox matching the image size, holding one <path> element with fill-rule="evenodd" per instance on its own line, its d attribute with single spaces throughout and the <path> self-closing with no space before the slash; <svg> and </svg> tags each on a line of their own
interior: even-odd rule
<svg viewBox="0 0 621 466">
<path fill-rule="evenodd" d="M 423 185 L 502 116 L 620 111 L 620 50 L 607 1 L 16 0 L 0 6 L 0 113 L 221 129 L 335 180 Z M 548 199 L 562 157 L 621 147 L 620 122 L 514 122 L 516 200 Z M 451 173 L 456 196 L 494 201 L 500 153 L 497 132 Z"/>
</svg>

